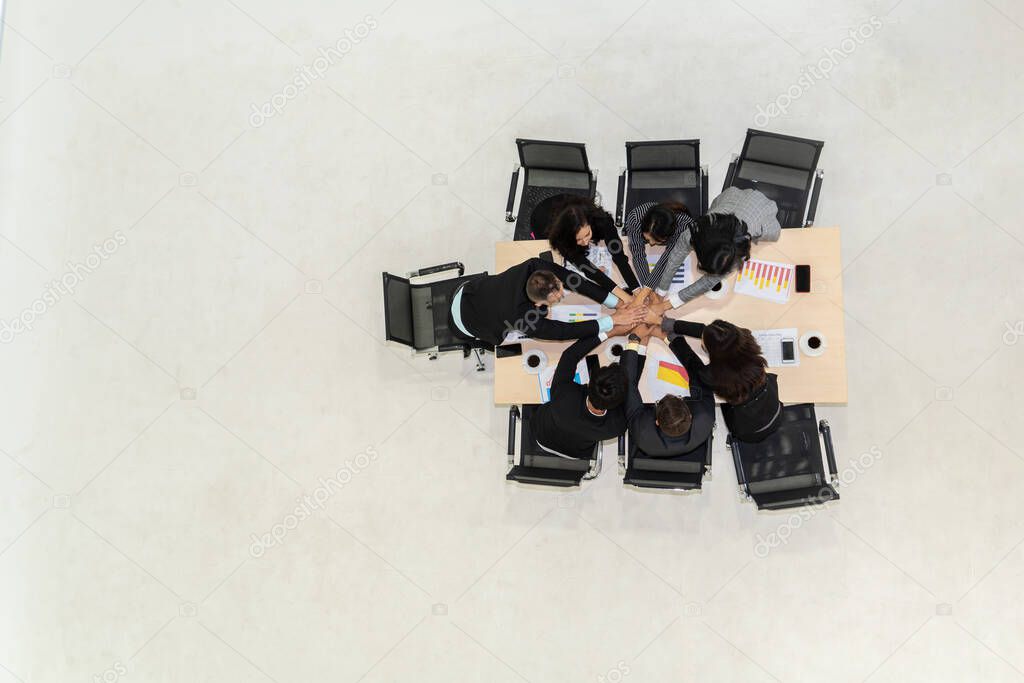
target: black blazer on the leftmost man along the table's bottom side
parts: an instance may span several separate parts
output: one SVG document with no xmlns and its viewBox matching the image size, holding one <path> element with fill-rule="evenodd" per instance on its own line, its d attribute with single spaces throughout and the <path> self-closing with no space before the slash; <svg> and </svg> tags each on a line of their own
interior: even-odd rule
<svg viewBox="0 0 1024 683">
<path fill-rule="evenodd" d="M 572 381 L 575 367 L 595 346 L 596 337 L 586 337 L 562 351 L 551 380 L 551 400 L 534 414 L 534 438 L 570 458 L 588 459 L 598 441 L 626 431 L 622 407 L 596 416 L 587 409 L 587 387 Z"/>
</svg>

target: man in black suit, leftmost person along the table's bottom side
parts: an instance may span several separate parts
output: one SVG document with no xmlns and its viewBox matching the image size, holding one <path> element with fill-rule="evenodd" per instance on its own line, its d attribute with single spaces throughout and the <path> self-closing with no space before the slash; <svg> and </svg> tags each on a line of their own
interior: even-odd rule
<svg viewBox="0 0 1024 683">
<path fill-rule="evenodd" d="M 587 386 L 573 381 L 577 365 L 600 343 L 592 335 L 562 351 L 551 380 L 551 400 L 537 409 L 534 417 L 534 438 L 542 450 L 586 460 L 598 441 L 626 431 L 627 382 L 618 364 L 595 370 Z"/>
</svg>

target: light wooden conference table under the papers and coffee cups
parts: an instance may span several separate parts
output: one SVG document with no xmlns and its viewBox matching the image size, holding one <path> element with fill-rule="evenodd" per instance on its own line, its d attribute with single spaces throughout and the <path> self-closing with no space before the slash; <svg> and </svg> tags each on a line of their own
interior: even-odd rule
<svg viewBox="0 0 1024 683">
<path fill-rule="evenodd" d="M 495 250 L 495 272 L 501 272 L 517 263 L 548 251 L 545 240 L 519 242 L 499 242 Z M 651 254 L 656 248 L 649 249 Z M 685 317 L 688 321 L 711 323 L 723 318 L 751 330 L 775 328 L 797 328 L 797 338 L 805 332 L 820 332 L 825 338 L 825 349 L 821 355 L 809 356 L 802 351 L 799 366 L 770 368 L 768 372 L 778 375 L 779 397 L 784 403 L 845 403 L 847 399 L 846 381 L 846 333 L 843 327 L 843 265 L 840 258 L 840 230 L 838 227 L 805 227 L 782 230 L 782 237 L 775 243 L 755 245 L 751 257 L 768 261 L 811 266 L 811 292 L 793 292 L 784 304 L 766 301 L 751 296 L 737 295 L 732 291 L 735 274 L 728 279 L 728 292 L 719 299 L 700 296 L 670 310 L 671 317 Z M 692 255 L 691 255 L 692 263 Z M 561 263 L 556 255 L 555 260 Z M 623 282 L 617 270 L 612 275 L 615 282 Z M 567 292 L 562 303 L 593 304 L 586 297 Z M 621 340 L 620 340 L 621 341 Z M 700 342 L 688 340 L 699 352 Z M 601 365 L 610 360 L 605 347 L 612 340 L 603 342 L 595 351 Z M 563 348 L 571 342 L 538 341 L 526 339 L 522 342 L 523 352 L 532 348 L 542 349 L 552 366 L 558 361 Z M 656 349 L 660 347 L 660 349 Z M 671 357 L 671 351 L 659 339 L 651 339 L 648 355 Z M 707 360 L 707 356 L 702 355 Z M 647 394 L 647 374 L 654 364 L 646 364 L 644 377 L 640 382 L 640 392 Z M 508 356 L 495 360 L 495 403 L 539 403 L 540 384 L 537 375 L 526 372 L 521 356 Z"/>
</svg>

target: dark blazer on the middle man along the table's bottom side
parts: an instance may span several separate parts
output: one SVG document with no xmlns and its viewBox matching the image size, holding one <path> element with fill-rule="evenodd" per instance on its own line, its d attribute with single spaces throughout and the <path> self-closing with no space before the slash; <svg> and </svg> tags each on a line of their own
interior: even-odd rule
<svg viewBox="0 0 1024 683">
<path fill-rule="evenodd" d="M 652 458 L 681 456 L 702 445 L 715 427 L 715 393 L 701 380 L 705 364 L 693 352 L 686 340 L 677 337 L 669 345 L 686 373 L 690 376 L 690 395 L 686 405 L 690 409 L 693 422 L 690 430 L 682 436 L 668 436 L 654 423 L 654 407 L 644 403 L 637 388 L 643 374 L 644 356 L 627 349 L 623 352 L 623 370 L 629 382 L 626 394 L 626 420 L 629 424 L 630 441 L 644 454 Z"/>
</svg>

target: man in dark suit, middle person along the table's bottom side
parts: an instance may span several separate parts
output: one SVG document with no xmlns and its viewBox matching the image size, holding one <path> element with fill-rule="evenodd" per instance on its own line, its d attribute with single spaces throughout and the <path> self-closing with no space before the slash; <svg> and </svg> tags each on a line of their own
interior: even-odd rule
<svg viewBox="0 0 1024 683">
<path fill-rule="evenodd" d="M 626 420 L 630 441 L 652 458 L 682 456 L 711 436 L 715 426 L 715 393 L 700 379 L 705 374 L 703 361 L 682 336 L 673 335 L 669 348 L 686 368 L 690 395 L 683 398 L 669 394 L 653 405 L 644 403 L 637 383 L 643 374 L 650 334 L 649 328 L 641 336 L 631 334 L 622 356 L 628 384 Z"/>
</svg>

